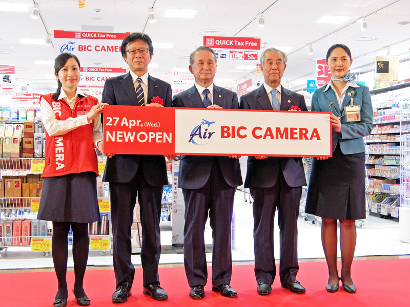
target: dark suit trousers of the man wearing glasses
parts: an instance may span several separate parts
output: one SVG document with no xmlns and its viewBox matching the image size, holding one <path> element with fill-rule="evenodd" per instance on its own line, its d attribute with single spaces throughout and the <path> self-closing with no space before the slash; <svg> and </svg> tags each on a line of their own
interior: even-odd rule
<svg viewBox="0 0 410 307">
<path fill-rule="evenodd" d="M 131 263 L 131 226 L 138 194 L 142 226 L 141 264 L 144 287 L 159 282 L 158 263 L 161 254 L 159 220 L 162 186 L 147 183 L 142 167 L 130 182 L 110 182 L 113 264 L 117 287 L 132 284 L 135 269 Z"/>
</svg>

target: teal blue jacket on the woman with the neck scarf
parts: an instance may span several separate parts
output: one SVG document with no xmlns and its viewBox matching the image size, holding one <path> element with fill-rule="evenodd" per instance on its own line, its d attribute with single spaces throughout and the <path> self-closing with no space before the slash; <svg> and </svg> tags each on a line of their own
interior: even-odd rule
<svg viewBox="0 0 410 307">
<path fill-rule="evenodd" d="M 324 92 L 326 86 L 322 86 L 316 89 L 312 96 L 312 111 L 316 112 L 333 112 L 336 116 L 341 116 L 344 107 L 350 104 L 352 98 L 353 103 L 360 106 L 360 121 L 346 122 L 346 116 L 342 116 L 340 118 L 342 123 L 341 133 L 332 130 L 333 151 L 337 143 L 339 143 L 344 155 L 364 152 L 363 137 L 370 135 L 373 128 L 373 106 L 370 91 L 363 84 L 357 85 L 359 87 L 349 86 L 347 88 L 341 111 L 337 103 L 335 91 L 331 88 Z M 350 93 L 351 96 L 348 96 L 347 93 Z M 332 110 L 329 105 L 331 102 L 335 106 L 332 106 Z"/>
</svg>

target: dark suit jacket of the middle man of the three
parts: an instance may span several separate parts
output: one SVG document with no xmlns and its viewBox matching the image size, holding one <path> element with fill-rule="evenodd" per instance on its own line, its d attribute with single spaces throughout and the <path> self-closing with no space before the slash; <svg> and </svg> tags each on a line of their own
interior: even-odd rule
<svg viewBox="0 0 410 307">
<path fill-rule="evenodd" d="M 237 109 L 239 107 L 236 93 L 215 84 L 213 103 L 226 109 Z M 195 85 L 182 93 L 174 95 L 172 106 L 205 107 Z M 227 156 L 180 156 L 178 187 L 182 189 L 199 189 L 203 187 L 210 177 L 214 159 L 218 159 L 223 178 L 230 186 L 237 187 L 242 184 L 238 159 Z"/>
</svg>

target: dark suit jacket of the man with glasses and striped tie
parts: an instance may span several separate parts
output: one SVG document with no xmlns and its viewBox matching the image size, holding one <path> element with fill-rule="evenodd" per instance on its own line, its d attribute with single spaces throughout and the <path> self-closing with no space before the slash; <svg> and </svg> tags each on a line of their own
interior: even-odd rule
<svg viewBox="0 0 410 307">
<path fill-rule="evenodd" d="M 154 96 L 163 99 L 164 106 L 171 106 L 171 85 L 148 76 L 148 99 Z M 103 103 L 114 105 L 136 105 L 137 95 L 130 73 L 107 79 L 103 90 Z M 155 112 L 155 107 L 152 108 Z M 164 152 L 166 153 L 166 152 Z M 134 178 L 139 166 L 144 171 L 147 182 L 152 186 L 168 184 L 165 158 L 159 155 L 115 155 L 107 158 L 103 181 L 129 182 Z"/>
</svg>

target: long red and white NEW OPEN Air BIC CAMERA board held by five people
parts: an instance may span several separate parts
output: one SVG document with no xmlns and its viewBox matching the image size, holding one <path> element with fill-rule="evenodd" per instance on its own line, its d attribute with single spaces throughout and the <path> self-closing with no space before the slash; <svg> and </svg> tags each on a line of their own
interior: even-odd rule
<svg viewBox="0 0 410 307">
<path fill-rule="evenodd" d="M 107 105 L 104 150 L 331 157 L 332 126 L 330 113 Z"/>
</svg>

